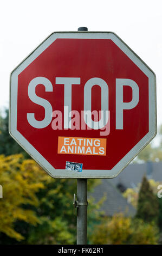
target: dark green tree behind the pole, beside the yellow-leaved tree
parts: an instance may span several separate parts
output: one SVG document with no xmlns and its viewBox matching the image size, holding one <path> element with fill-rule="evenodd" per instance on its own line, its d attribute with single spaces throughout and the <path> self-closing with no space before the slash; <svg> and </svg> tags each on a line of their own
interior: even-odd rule
<svg viewBox="0 0 162 256">
<path fill-rule="evenodd" d="M 76 243 L 76 215 L 73 194 L 76 194 L 75 179 L 53 179 L 44 190 L 37 193 L 40 207 L 35 209 L 43 223 L 30 228 L 29 244 L 72 244 Z M 88 191 L 98 185 L 99 180 L 88 179 Z M 99 203 L 88 200 L 88 230 L 100 218 Z"/>
</svg>

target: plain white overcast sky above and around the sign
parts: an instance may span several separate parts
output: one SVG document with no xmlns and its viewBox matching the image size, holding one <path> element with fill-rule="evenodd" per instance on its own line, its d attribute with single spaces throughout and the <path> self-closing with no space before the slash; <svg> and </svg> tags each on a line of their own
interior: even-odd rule
<svg viewBox="0 0 162 256">
<path fill-rule="evenodd" d="M 157 76 L 158 125 L 162 123 L 161 0 L 5 0 L 0 5 L 0 108 L 8 106 L 10 72 L 55 31 L 112 31 Z"/>
</svg>

